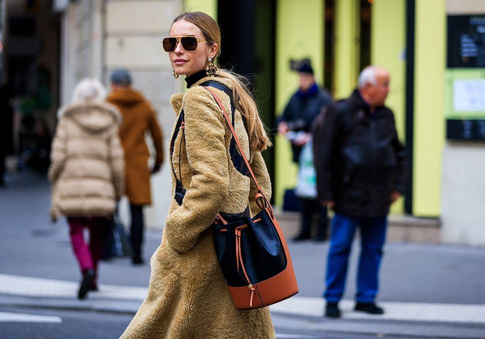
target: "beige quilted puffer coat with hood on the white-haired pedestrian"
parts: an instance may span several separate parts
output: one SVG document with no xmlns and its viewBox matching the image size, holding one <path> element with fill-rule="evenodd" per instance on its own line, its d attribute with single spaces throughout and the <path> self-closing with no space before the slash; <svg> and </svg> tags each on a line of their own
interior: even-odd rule
<svg viewBox="0 0 485 339">
<path fill-rule="evenodd" d="M 51 217 L 110 217 L 124 192 L 121 116 L 107 103 L 62 107 L 50 153 Z"/>
</svg>

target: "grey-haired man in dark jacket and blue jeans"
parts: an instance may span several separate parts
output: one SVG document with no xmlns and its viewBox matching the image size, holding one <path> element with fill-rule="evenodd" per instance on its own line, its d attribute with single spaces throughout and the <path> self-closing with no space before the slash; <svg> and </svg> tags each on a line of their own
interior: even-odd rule
<svg viewBox="0 0 485 339">
<path fill-rule="evenodd" d="M 338 318 L 348 255 L 357 227 L 361 252 L 355 311 L 382 314 L 374 303 L 391 203 L 404 192 L 405 157 L 392 111 L 384 106 L 389 73 L 368 66 L 349 98 L 328 107 L 315 126 L 314 153 L 320 202 L 332 207 L 326 269 L 325 315 Z"/>
</svg>

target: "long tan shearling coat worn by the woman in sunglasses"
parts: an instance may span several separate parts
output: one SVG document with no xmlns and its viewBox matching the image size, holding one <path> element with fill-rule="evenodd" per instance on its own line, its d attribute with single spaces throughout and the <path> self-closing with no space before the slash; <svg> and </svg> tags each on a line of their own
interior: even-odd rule
<svg viewBox="0 0 485 339">
<path fill-rule="evenodd" d="M 230 80 L 202 78 L 185 94 L 170 101 L 185 114 L 185 138 L 176 136 L 172 163 L 187 189 L 179 206 L 172 198 L 161 245 L 150 260 L 148 296 L 121 338 L 130 339 L 271 339 L 274 330 L 268 308 L 238 310 L 234 307 L 214 251 L 210 225 L 217 212 L 241 213 L 248 205 L 259 212 L 255 186 L 234 169 L 229 156 L 231 133 L 211 94 L 201 86 L 216 80 L 231 87 Z M 214 89 L 227 112 L 229 97 Z M 235 112 L 235 130 L 264 194 L 271 185 L 259 152 L 249 153 L 241 115 Z M 172 131 L 172 134 L 174 130 Z M 181 145 L 180 145 L 181 143 Z M 181 156 L 178 149 L 181 146 Z M 172 173 L 172 197 L 175 178 Z"/>
</svg>

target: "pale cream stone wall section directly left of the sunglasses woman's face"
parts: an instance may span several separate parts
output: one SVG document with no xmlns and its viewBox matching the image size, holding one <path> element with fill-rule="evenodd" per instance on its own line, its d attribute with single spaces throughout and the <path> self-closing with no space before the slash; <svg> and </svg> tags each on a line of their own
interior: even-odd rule
<svg viewBox="0 0 485 339">
<path fill-rule="evenodd" d="M 180 0 L 108 0 L 104 1 L 103 79 L 109 83 L 110 72 L 118 67 L 128 69 L 133 87 L 151 102 L 163 131 L 164 149 L 168 149 L 175 113 L 169 99 L 180 92 L 183 79 L 175 80 L 161 39 L 182 9 Z M 151 139 L 147 138 L 151 145 Z M 150 149 L 153 149 L 150 147 Z M 164 224 L 171 196 L 168 155 L 159 173 L 151 176 L 152 205 L 145 208 L 148 227 Z M 127 221 L 127 203 L 121 215 Z"/>
</svg>

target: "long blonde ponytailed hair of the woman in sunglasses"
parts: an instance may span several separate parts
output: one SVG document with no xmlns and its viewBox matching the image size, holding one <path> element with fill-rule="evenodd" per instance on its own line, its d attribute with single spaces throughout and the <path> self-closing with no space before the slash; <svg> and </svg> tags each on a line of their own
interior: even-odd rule
<svg viewBox="0 0 485 339">
<path fill-rule="evenodd" d="M 185 12 L 178 15 L 173 22 L 185 20 L 197 26 L 207 40 L 207 43 L 218 46 L 217 53 L 214 57 L 214 63 L 220 55 L 220 28 L 215 20 L 203 12 Z M 173 23 L 172 23 L 173 24 Z M 249 138 L 249 148 L 251 151 L 263 151 L 271 146 L 264 125 L 257 110 L 256 103 L 248 89 L 248 81 L 243 76 L 235 74 L 231 70 L 219 68 L 218 75 L 221 78 L 230 79 L 232 82 L 232 94 L 234 105 L 237 110 L 244 116 L 247 124 L 247 136 Z"/>
</svg>

